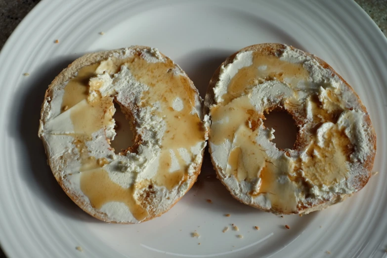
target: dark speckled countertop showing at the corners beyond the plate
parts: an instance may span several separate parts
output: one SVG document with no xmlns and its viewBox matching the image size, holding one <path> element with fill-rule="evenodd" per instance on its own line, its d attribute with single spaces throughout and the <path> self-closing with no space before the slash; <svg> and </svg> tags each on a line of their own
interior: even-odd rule
<svg viewBox="0 0 387 258">
<path fill-rule="evenodd" d="M 40 0 L 0 0 L 0 49 Z M 356 0 L 387 37 L 387 0 Z M 0 258 L 5 255 L 0 249 Z"/>
</svg>

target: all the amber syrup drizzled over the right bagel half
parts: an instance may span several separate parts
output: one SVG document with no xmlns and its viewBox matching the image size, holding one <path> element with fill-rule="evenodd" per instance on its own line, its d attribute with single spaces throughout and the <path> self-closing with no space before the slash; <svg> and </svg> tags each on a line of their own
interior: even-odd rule
<svg viewBox="0 0 387 258">
<path fill-rule="evenodd" d="M 325 135 L 323 147 L 315 143 L 315 137 L 312 139 L 312 144 L 307 149 L 311 158 L 305 162 L 301 159 L 293 162 L 285 153 L 274 160 L 256 144 L 256 129 L 260 126 L 263 114 L 258 114 L 250 103 L 247 95 L 249 91 L 264 81 L 277 80 L 286 82 L 294 89 L 297 97 L 298 82 L 307 84 L 308 77 L 309 73 L 302 64 L 280 60 L 276 56 L 261 56 L 254 52 L 253 64 L 238 70 L 227 87 L 227 93 L 222 96 L 223 101 L 210 108 L 211 142 L 220 145 L 228 140 L 232 143 L 225 173 L 235 176 L 239 181 L 260 178 L 259 185 L 250 194 L 253 197 L 264 194 L 277 212 L 297 212 L 296 187 L 300 181 L 293 174 L 301 169 L 307 178 L 319 186 L 339 182 L 347 174 L 345 162 L 349 157 L 348 153 L 353 151 L 349 139 L 336 125 Z M 344 110 L 337 104 L 338 100 L 337 94 L 330 89 L 327 90 L 324 103 L 326 109 L 322 108 L 317 95 L 311 98 L 313 117 L 319 121 L 317 126 L 325 122 L 337 122 Z M 294 101 L 295 99 L 288 99 L 284 104 L 285 108 L 291 110 L 299 105 L 293 103 Z M 313 153 L 318 156 L 313 156 Z"/>
</svg>

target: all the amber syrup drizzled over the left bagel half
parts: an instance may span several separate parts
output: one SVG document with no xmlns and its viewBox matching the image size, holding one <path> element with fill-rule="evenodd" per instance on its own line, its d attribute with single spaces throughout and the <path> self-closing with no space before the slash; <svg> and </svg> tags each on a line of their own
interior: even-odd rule
<svg viewBox="0 0 387 258">
<path fill-rule="evenodd" d="M 144 93 L 142 105 L 156 102 L 161 104 L 158 115 L 164 116 L 167 129 L 162 139 L 159 168 L 156 176 L 152 178 L 152 183 L 172 190 L 176 185 L 185 182 L 188 179 L 188 165 L 178 149 L 187 149 L 192 161 L 194 157 L 190 148 L 205 140 L 199 116 L 196 113 L 191 114 L 196 92 L 188 79 L 173 75 L 172 69 L 175 65 L 171 60 L 167 60 L 166 63 L 148 63 L 139 56 L 134 56 L 128 59 L 109 59 L 101 63 L 109 74 L 118 72 L 125 64 L 136 80 L 151 87 L 150 91 Z M 78 75 L 65 86 L 62 100 L 62 112 L 71 112 L 70 117 L 75 130 L 71 135 L 80 153 L 81 190 L 88 197 L 91 206 L 96 209 L 100 209 L 108 202 L 123 202 L 137 220 L 142 220 L 149 214 L 134 198 L 134 191 L 138 187 L 132 184 L 129 188 L 123 188 L 113 182 L 108 172 L 102 169 L 109 161 L 106 158 L 95 159 L 90 156 L 86 147 L 86 141 L 91 140 L 91 134 L 109 125 L 115 112 L 112 97 L 98 96 L 93 101 L 87 98 L 88 81 L 96 75 L 95 71 L 101 63 L 80 69 Z M 93 87 L 97 89 L 98 85 Z M 180 111 L 172 108 L 172 102 L 176 97 L 183 103 L 183 109 Z M 77 108 L 77 105 L 81 104 L 81 108 Z M 170 172 L 172 165 L 170 150 L 174 152 L 179 164 L 179 169 L 173 172 Z M 137 186 L 145 188 L 151 183 L 147 182 L 147 184 L 137 183 Z"/>
</svg>

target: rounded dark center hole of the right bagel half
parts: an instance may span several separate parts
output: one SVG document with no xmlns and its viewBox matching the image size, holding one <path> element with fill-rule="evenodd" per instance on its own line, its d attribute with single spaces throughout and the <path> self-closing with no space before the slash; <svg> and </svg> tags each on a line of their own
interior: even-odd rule
<svg viewBox="0 0 387 258">
<path fill-rule="evenodd" d="M 298 129 L 293 117 L 284 110 L 273 110 L 265 115 L 263 125 L 275 130 L 272 140 L 279 149 L 293 149 L 297 139 Z"/>
</svg>

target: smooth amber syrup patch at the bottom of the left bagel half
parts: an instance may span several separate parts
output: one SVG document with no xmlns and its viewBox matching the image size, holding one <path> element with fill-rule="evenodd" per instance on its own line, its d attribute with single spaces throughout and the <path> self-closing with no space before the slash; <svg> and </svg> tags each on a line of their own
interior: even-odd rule
<svg viewBox="0 0 387 258">
<path fill-rule="evenodd" d="M 129 188 L 123 188 L 113 182 L 108 172 L 103 169 L 82 172 L 81 190 L 95 209 L 100 209 L 108 202 L 122 202 L 128 206 L 135 219 L 142 220 L 148 215 L 133 197 L 134 184 Z"/>
</svg>

